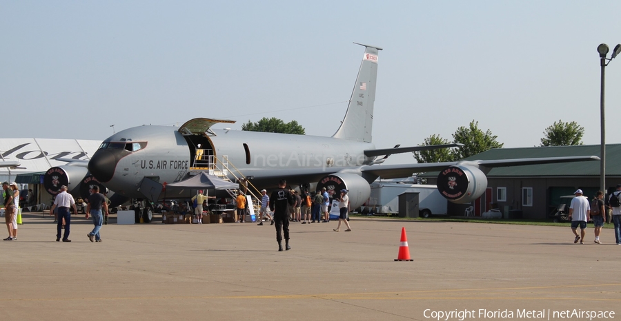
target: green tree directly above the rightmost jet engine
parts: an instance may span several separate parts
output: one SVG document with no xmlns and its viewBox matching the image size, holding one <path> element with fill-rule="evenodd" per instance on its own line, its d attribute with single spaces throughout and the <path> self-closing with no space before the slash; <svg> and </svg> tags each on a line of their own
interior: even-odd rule
<svg viewBox="0 0 621 321">
<path fill-rule="evenodd" d="M 455 148 L 451 152 L 453 160 L 460 159 L 485 152 L 492 148 L 502 148 L 502 143 L 496 141 L 495 136 L 490 130 L 483 132 L 479 129 L 479 122 L 474 120 L 470 122 L 469 127 L 459 127 L 453 134 L 453 143 L 462 143 L 464 146 Z"/>
</svg>

